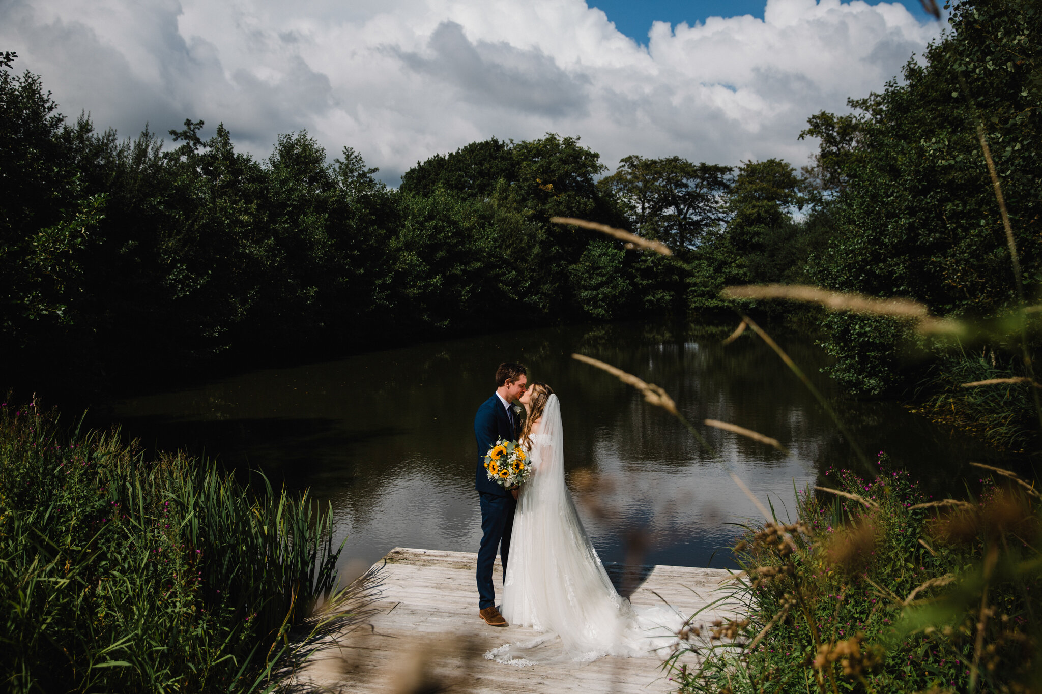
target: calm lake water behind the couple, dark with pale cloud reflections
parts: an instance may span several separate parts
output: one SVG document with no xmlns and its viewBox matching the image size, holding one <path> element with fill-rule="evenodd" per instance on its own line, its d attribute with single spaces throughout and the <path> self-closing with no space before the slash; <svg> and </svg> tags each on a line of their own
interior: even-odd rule
<svg viewBox="0 0 1042 694">
<path fill-rule="evenodd" d="M 581 353 L 669 391 L 692 422 L 721 419 L 778 439 L 783 454 L 699 426 L 730 467 L 783 518 L 795 489 L 829 467 L 854 467 L 850 446 L 791 371 L 748 333 L 617 324 L 428 342 L 340 361 L 253 371 L 124 402 L 124 433 L 149 447 L 217 456 L 332 504 L 342 569 L 394 546 L 476 551 L 474 413 L 501 361 L 519 360 L 562 404 L 566 467 L 604 561 L 734 566 L 736 523 L 760 516 L 724 466 L 632 388 L 571 359 Z M 963 493 L 967 461 L 1001 458 L 890 402 L 839 396 L 805 340 L 782 345 L 814 379 L 874 460 L 887 451 L 937 495 Z M 576 472 L 579 470 L 585 470 Z M 595 484 L 576 489 L 576 481 Z"/>
</svg>

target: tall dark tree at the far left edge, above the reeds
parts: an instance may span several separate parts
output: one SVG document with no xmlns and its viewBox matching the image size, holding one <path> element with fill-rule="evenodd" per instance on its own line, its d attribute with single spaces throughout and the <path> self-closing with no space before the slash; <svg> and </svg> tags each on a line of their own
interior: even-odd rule
<svg viewBox="0 0 1042 694">
<path fill-rule="evenodd" d="M 71 374 L 94 370 L 82 285 L 106 200 L 76 168 L 84 120 L 66 125 L 39 77 L 11 74 L 16 57 L 0 56 L 0 354 L 74 388 Z"/>
</svg>

